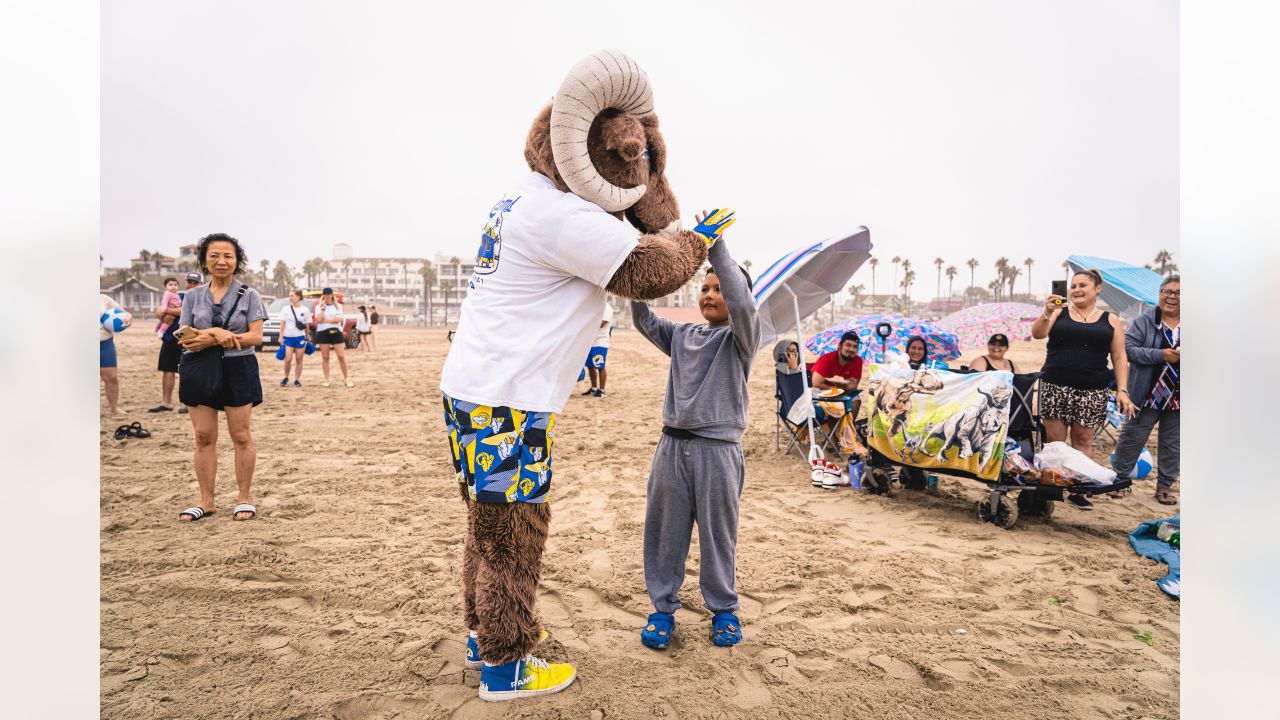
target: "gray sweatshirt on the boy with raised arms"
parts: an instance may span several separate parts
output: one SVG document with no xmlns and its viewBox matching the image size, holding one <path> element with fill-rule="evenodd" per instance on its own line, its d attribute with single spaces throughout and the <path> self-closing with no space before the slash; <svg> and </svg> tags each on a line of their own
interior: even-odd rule
<svg viewBox="0 0 1280 720">
<path fill-rule="evenodd" d="M 746 430 L 746 379 L 760 342 L 760 316 L 746 277 L 723 242 L 708 258 L 721 283 L 728 323 L 672 323 L 648 302 L 631 302 L 636 329 L 671 356 L 662 421 L 696 436 L 740 442 Z"/>
</svg>

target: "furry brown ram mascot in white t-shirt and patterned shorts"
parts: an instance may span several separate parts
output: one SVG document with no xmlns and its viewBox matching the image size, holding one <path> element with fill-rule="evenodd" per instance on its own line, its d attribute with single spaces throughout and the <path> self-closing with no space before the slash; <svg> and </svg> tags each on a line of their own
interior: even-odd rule
<svg viewBox="0 0 1280 720">
<path fill-rule="evenodd" d="M 570 664 L 532 655 L 550 521 L 556 416 L 608 293 L 652 300 L 701 266 L 732 220 L 680 228 L 644 70 L 616 50 L 573 65 L 525 142 L 530 173 L 484 220 L 440 391 L 467 505 L 462 596 L 480 697 L 564 689 Z"/>
</svg>

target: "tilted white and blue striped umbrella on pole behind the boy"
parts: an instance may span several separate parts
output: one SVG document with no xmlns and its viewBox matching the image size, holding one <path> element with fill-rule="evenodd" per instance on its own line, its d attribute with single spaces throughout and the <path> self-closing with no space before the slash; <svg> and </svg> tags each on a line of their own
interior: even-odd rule
<svg viewBox="0 0 1280 720">
<path fill-rule="evenodd" d="M 850 234 L 810 242 L 796 247 L 755 278 L 751 292 L 760 314 L 760 345 L 763 350 L 781 336 L 795 333 L 796 342 L 804 343 L 800 323 L 831 302 L 831 296 L 845 290 L 858 268 L 872 255 L 872 233 L 865 227 Z M 804 378 L 805 395 L 809 393 L 808 373 Z M 809 414 L 809 457 L 817 457 L 813 442 L 813 413 Z"/>
</svg>

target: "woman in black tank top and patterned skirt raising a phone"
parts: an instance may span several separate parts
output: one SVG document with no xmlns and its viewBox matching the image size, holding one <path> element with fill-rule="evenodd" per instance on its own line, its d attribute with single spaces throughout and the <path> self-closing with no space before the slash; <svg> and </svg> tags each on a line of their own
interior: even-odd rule
<svg viewBox="0 0 1280 720">
<path fill-rule="evenodd" d="M 1044 314 L 1032 325 L 1032 337 L 1048 338 L 1041 375 L 1039 410 L 1044 439 L 1065 441 L 1088 455 L 1093 433 L 1107 421 L 1108 386 L 1120 388 L 1116 404 L 1126 418 L 1134 415 L 1129 398 L 1129 360 L 1120 318 L 1098 309 L 1102 274 L 1084 270 L 1071 277 L 1069 299 L 1050 295 Z M 1107 359 L 1111 368 L 1107 368 Z M 1084 496 L 1069 501 L 1082 510 L 1093 505 Z"/>
</svg>

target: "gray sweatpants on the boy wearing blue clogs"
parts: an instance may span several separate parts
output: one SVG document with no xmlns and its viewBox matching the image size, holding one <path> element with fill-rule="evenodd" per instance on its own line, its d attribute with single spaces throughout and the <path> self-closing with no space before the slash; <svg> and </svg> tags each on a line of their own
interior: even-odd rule
<svg viewBox="0 0 1280 720">
<path fill-rule="evenodd" d="M 658 612 L 680 609 L 695 521 L 707 610 L 737 611 L 737 501 L 745 478 L 741 443 L 658 439 L 644 521 L 644 583 Z"/>
</svg>

